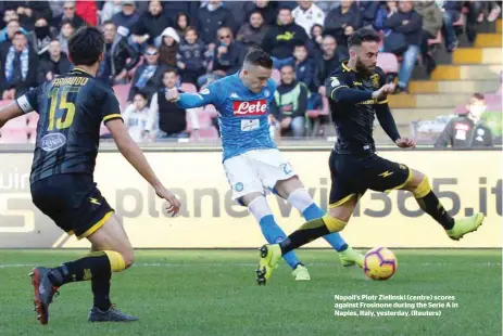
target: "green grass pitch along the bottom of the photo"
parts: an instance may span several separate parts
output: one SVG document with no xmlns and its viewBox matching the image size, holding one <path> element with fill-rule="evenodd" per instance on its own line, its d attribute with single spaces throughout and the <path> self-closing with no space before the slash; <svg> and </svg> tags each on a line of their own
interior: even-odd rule
<svg viewBox="0 0 503 336">
<path fill-rule="evenodd" d="M 502 334 L 501 250 L 394 250 L 397 274 L 375 282 L 360 269 L 342 268 L 331 250 L 304 249 L 299 256 L 312 281 L 294 282 L 281 262 L 261 287 L 254 280 L 257 250 L 140 250 L 136 264 L 112 282 L 112 301 L 139 322 L 88 323 L 90 283 L 77 283 L 61 288 L 49 325 L 39 325 L 32 311 L 32 267 L 58 266 L 84 253 L 0 250 L 0 335 Z M 440 316 L 335 316 L 335 295 L 454 296 L 458 307 L 417 309 L 440 310 Z"/>
</svg>

